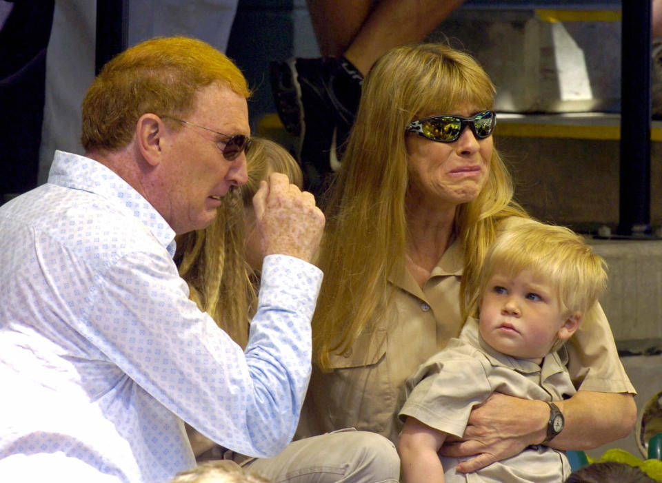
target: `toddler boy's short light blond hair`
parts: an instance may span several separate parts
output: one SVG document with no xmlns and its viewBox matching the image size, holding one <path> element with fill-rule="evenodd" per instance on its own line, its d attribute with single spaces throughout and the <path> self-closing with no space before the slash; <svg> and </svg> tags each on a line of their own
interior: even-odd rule
<svg viewBox="0 0 662 483">
<path fill-rule="evenodd" d="M 585 314 L 605 291 L 606 268 L 605 260 L 572 230 L 522 220 L 498 236 L 485 256 L 479 293 L 496 272 L 514 277 L 530 270 L 554 287 L 563 316 Z"/>
</svg>

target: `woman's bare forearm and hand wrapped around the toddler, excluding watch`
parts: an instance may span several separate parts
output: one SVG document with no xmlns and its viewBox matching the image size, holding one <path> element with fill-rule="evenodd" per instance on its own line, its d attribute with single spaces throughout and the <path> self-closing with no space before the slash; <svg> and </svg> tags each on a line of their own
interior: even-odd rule
<svg viewBox="0 0 662 483">
<path fill-rule="evenodd" d="M 578 391 L 572 398 L 555 401 L 565 427 L 548 446 L 555 449 L 592 449 L 632 431 L 636 419 L 634 397 L 629 393 Z M 510 458 L 547 435 L 550 407 L 543 401 L 493 393 L 470 415 L 462 440 L 447 439 L 444 456 L 471 456 L 458 471 L 470 472 Z"/>
</svg>

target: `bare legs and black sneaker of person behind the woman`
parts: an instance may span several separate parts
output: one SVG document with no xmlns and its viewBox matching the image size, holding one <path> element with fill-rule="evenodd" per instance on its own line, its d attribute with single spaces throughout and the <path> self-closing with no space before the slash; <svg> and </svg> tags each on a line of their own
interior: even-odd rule
<svg viewBox="0 0 662 483">
<path fill-rule="evenodd" d="M 272 92 L 285 129 L 300 136 L 306 188 L 323 191 L 354 121 L 361 82 L 397 45 L 428 37 L 464 0 L 309 0 L 319 59 L 271 65 Z"/>
</svg>

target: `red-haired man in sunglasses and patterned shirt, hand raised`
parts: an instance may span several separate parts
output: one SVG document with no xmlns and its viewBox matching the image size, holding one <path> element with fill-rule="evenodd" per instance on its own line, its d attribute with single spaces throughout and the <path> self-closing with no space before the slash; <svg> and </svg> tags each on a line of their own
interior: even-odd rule
<svg viewBox="0 0 662 483">
<path fill-rule="evenodd" d="M 310 376 L 310 265 L 324 217 L 273 174 L 254 205 L 268 256 L 243 350 L 188 300 L 174 236 L 245 183 L 250 92 L 201 41 L 152 39 L 83 101 L 86 156 L 0 209 L 0 480 L 165 482 L 194 466 L 183 421 L 228 449 L 288 444 Z"/>
</svg>

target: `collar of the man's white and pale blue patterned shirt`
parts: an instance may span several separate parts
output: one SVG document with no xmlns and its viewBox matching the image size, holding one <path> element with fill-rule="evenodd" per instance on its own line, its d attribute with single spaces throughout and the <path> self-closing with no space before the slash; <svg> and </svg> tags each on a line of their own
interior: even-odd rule
<svg viewBox="0 0 662 483">
<path fill-rule="evenodd" d="M 48 183 L 80 189 L 105 198 L 128 216 L 138 218 L 159 243 L 168 249 L 170 256 L 174 256 L 174 230 L 139 192 L 108 167 L 79 154 L 56 151 Z"/>
</svg>

